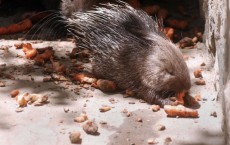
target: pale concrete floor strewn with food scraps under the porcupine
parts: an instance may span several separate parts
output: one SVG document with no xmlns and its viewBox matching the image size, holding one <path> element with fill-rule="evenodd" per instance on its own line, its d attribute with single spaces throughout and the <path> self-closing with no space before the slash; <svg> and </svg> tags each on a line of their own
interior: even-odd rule
<svg viewBox="0 0 230 145">
<path fill-rule="evenodd" d="M 199 118 L 168 118 L 163 109 L 153 112 L 151 105 L 139 102 L 135 98 L 123 98 L 120 93 L 105 94 L 100 90 L 81 89 L 79 95 L 71 89 L 77 86 L 73 83 L 65 88 L 67 82 L 55 84 L 43 82 L 46 77 L 42 67 L 36 66 L 32 61 L 25 58 L 22 50 L 16 50 L 13 46 L 21 41 L 0 40 L 0 74 L 11 74 L 16 79 L 7 79 L 0 76 L 0 81 L 5 87 L 0 87 L 0 145 L 68 145 L 69 132 L 80 131 L 82 145 L 145 145 L 149 138 L 154 138 L 159 145 L 166 144 L 165 139 L 170 137 L 170 145 L 223 145 L 223 132 L 221 131 L 222 112 L 215 89 L 215 73 L 203 67 L 205 86 L 194 84 L 195 78 L 192 72 L 200 68 L 200 64 L 209 64 L 204 47 L 183 50 L 189 58 L 186 61 L 190 72 L 193 86 L 190 94 L 201 94 Z M 62 59 L 70 63 L 66 51 L 74 47 L 72 42 L 36 42 L 35 48 L 53 46 L 55 55 L 65 57 Z M 8 51 L 4 48 L 8 48 Z M 4 66 L 3 64 L 6 64 Z M 33 79 L 31 79 L 33 78 Z M 19 89 L 21 93 L 40 93 L 49 96 L 50 103 L 43 106 L 29 105 L 18 113 L 15 99 L 10 97 L 13 89 Z M 89 95 L 91 94 L 91 95 Z M 93 97 L 92 97 L 93 96 Z M 115 102 L 109 102 L 114 98 Z M 134 101 L 135 104 L 129 104 Z M 112 109 L 101 113 L 99 108 L 109 105 Z M 64 109 L 70 111 L 66 113 Z M 127 109 L 132 113 L 127 117 L 122 111 Z M 210 116 L 216 111 L 217 117 Z M 88 135 L 82 129 L 82 123 L 76 123 L 73 119 L 86 112 L 89 119 L 95 120 L 99 126 L 98 135 Z M 142 118 L 143 122 L 137 122 Z M 106 121 L 107 125 L 100 124 Z M 158 131 L 157 125 L 166 126 L 164 131 Z"/>
</svg>

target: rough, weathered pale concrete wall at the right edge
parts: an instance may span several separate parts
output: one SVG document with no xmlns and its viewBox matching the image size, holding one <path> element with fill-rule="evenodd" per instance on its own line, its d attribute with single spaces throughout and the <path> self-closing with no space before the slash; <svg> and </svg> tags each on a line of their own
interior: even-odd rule
<svg viewBox="0 0 230 145">
<path fill-rule="evenodd" d="M 226 145 L 230 145 L 230 2 L 229 0 L 201 0 L 205 15 L 205 44 L 215 59 L 219 98 L 223 104 L 223 130 Z"/>
</svg>

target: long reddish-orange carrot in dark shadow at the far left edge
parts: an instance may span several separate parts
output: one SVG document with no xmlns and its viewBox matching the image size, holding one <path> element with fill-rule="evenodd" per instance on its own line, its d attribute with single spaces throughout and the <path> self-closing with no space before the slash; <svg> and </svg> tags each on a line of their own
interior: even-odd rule
<svg viewBox="0 0 230 145">
<path fill-rule="evenodd" d="M 11 24 L 6 27 L 0 27 L 0 35 L 23 32 L 25 30 L 30 29 L 31 27 L 32 27 L 31 20 L 25 19 L 17 24 Z"/>
</svg>

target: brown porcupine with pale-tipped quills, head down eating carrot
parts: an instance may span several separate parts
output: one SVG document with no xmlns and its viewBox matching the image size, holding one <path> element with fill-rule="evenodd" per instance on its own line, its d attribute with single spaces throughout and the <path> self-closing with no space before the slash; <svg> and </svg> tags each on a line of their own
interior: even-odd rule
<svg viewBox="0 0 230 145">
<path fill-rule="evenodd" d="M 63 0 L 61 7 L 68 30 L 79 48 L 92 50 L 93 74 L 98 78 L 112 80 L 119 88 L 131 89 L 139 98 L 162 107 L 175 105 L 170 97 L 190 89 L 182 53 L 145 12 L 121 1 L 88 11 L 68 10 L 68 3 Z"/>
</svg>

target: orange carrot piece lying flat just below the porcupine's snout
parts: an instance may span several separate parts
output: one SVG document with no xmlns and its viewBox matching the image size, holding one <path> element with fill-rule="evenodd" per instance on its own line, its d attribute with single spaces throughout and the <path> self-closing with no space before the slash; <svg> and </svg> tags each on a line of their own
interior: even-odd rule
<svg viewBox="0 0 230 145">
<path fill-rule="evenodd" d="M 182 105 L 178 106 L 170 106 L 165 105 L 164 110 L 170 117 L 191 117 L 191 118 L 197 118 L 199 117 L 198 111 L 190 108 L 186 108 Z"/>
</svg>

